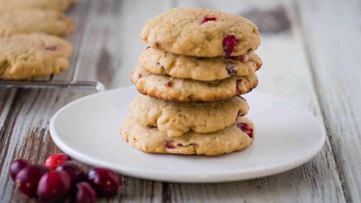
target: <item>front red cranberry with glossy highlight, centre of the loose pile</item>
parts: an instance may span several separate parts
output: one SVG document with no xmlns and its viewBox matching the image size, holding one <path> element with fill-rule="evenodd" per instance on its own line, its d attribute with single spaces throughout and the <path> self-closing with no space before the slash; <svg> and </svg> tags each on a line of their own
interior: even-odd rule
<svg viewBox="0 0 361 203">
<path fill-rule="evenodd" d="M 68 197 L 70 188 L 71 181 L 66 172 L 51 170 L 40 178 L 36 194 L 44 203 L 63 202 Z"/>
</svg>

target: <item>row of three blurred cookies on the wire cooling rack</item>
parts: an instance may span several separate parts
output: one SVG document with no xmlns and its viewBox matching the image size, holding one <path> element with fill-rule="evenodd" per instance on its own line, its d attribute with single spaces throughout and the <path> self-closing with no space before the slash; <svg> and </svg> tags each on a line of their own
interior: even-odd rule
<svg viewBox="0 0 361 203">
<path fill-rule="evenodd" d="M 0 79 L 29 79 L 69 67 L 64 37 L 74 22 L 63 12 L 77 0 L 0 0 Z"/>
</svg>

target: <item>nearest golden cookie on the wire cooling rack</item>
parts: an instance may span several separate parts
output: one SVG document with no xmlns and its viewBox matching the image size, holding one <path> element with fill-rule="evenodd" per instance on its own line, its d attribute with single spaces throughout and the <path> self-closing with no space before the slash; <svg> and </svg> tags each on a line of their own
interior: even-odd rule
<svg viewBox="0 0 361 203">
<path fill-rule="evenodd" d="M 45 77 L 68 69 L 71 45 L 41 33 L 0 37 L 0 78 Z"/>
</svg>

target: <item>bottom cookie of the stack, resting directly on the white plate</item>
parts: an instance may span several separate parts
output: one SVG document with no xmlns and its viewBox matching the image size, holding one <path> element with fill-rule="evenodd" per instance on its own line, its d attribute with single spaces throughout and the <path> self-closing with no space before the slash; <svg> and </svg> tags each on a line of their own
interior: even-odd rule
<svg viewBox="0 0 361 203">
<path fill-rule="evenodd" d="M 213 133 L 188 131 L 168 137 L 154 126 L 143 126 L 127 118 L 120 128 L 122 138 L 134 148 L 152 153 L 220 155 L 243 150 L 255 140 L 255 126 L 244 116 L 231 126 Z"/>
</svg>

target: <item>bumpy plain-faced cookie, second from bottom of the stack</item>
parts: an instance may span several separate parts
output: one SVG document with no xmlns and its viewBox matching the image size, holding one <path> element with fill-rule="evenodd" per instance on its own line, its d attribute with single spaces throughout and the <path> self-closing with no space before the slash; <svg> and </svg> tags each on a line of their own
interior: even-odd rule
<svg viewBox="0 0 361 203">
<path fill-rule="evenodd" d="M 210 133 L 234 123 L 237 116 L 247 115 L 247 101 L 234 96 L 213 102 L 169 102 L 139 94 L 130 104 L 130 112 L 140 124 L 157 126 L 169 137 L 193 130 Z"/>
</svg>

